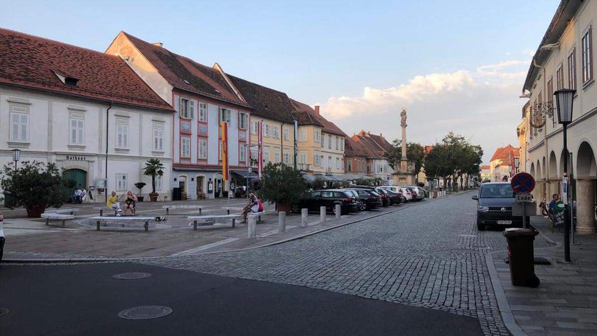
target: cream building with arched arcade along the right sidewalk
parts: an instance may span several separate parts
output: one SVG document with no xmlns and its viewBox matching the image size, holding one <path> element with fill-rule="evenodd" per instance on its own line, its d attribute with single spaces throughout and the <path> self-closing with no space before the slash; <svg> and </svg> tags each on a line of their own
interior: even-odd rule
<svg viewBox="0 0 597 336">
<path fill-rule="evenodd" d="M 562 194 L 564 158 L 572 197 L 577 202 L 577 231 L 596 230 L 597 85 L 595 84 L 595 24 L 597 0 L 562 1 L 540 42 L 523 87 L 530 112 L 525 124 L 524 169 L 537 181 L 534 197 L 549 200 Z M 576 90 L 573 121 L 568 125 L 568 153 L 564 151 L 553 92 Z M 553 116 L 553 117 L 552 117 Z"/>
</svg>

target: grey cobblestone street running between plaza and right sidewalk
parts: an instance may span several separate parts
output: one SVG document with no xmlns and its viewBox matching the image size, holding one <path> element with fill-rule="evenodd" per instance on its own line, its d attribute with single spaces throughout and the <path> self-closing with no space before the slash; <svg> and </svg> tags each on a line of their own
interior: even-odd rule
<svg viewBox="0 0 597 336">
<path fill-rule="evenodd" d="M 487 335 L 508 335 L 485 264 L 506 242 L 499 230 L 476 230 L 471 195 L 281 245 L 140 262 L 433 308 L 476 317 Z M 536 244 L 549 246 L 540 237 Z"/>
</svg>

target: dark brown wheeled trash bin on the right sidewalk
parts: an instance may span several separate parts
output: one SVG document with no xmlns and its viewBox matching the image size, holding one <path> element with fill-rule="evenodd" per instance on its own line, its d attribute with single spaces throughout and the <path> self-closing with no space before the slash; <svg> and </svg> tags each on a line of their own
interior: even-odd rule
<svg viewBox="0 0 597 336">
<path fill-rule="evenodd" d="M 528 228 L 507 228 L 504 236 L 508 241 L 510 280 L 514 286 L 539 286 L 535 275 L 533 241 L 538 231 Z"/>
</svg>

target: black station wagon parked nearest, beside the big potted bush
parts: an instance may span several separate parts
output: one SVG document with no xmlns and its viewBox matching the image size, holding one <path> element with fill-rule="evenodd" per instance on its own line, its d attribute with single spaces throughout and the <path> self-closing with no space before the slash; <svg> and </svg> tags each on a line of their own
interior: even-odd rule
<svg viewBox="0 0 597 336">
<path fill-rule="evenodd" d="M 340 204 L 342 214 L 356 211 L 359 207 L 355 197 L 349 191 L 329 189 L 312 191 L 309 197 L 302 200 L 299 204 L 293 204 L 291 211 L 300 212 L 303 208 L 307 208 L 310 211 L 319 211 L 319 207 L 325 206 L 328 211 L 336 213 L 336 204 Z"/>
</svg>

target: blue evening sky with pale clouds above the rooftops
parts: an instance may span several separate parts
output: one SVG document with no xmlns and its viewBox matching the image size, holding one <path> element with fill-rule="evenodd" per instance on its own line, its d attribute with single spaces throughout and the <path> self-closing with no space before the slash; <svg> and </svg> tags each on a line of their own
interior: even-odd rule
<svg viewBox="0 0 597 336">
<path fill-rule="evenodd" d="M 284 91 L 347 135 L 518 144 L 519 98 L 559 0 L 7 1 L 0 27 L 105 51 L 119 31 Z"/>
</svg>

